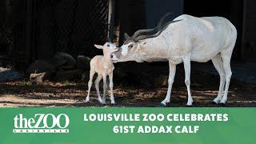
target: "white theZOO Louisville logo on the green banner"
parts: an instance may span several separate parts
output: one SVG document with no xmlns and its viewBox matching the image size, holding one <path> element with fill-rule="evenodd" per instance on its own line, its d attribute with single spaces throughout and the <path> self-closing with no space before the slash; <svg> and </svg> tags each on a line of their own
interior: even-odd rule
<svg viewBox="0 0 256 144">
<path fill-rule="evenodd" d="M 18 114 L 14 117 L 13 133 L 69 133 L 69 124 L 66 114 L 34 114 L 34 118 Z"/>
</svg>

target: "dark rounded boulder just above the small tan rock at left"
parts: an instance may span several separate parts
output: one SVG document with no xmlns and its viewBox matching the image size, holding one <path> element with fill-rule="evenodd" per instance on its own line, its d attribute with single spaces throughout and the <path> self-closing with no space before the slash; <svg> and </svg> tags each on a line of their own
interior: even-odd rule
<svg viewBox="0 0 256 144">
<path fill-rule="evenodd" d="M 26 70 L 28 74 L 40 74 L 47 71 L 54 71 L 55 66 L 48 60 L 38 59 L 36 62 L 32 63 Z"/>
</svg>

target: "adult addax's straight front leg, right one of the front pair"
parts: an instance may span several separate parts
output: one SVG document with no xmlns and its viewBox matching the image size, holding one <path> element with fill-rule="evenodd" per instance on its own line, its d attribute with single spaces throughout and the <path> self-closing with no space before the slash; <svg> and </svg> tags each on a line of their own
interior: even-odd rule
<svg viewBox="0 0 256 144">
<path fill-rule="evenodd" d="M 185 70 L 186 90 L 188 95 L 186 106 L 192 106 L 193 98 L 190 93 L 190 55 L 183 58 L 183 63 L 184 63 L 184 70 Z"/>
</svg>

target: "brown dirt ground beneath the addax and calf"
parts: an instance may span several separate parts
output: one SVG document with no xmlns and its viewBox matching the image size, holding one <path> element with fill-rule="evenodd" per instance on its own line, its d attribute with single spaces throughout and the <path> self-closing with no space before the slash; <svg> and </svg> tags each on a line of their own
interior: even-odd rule
<svg viewBox="0 0 256 144">
<path fill-rule="evenodd" d="M 162 74 L 168 74 L 168 70 L 161 70 Z M 171 94 L 170 104 L 167 106 L 186 106 L 186 86 L 182 70 L 177 70 L 174 87 Z M 159 72 L 160 73 L 160 72 Z M 154 75 L 154 74 L 152 74 Z M 154 76 L 152 76 L 154 77 Z M 129 78 L 122 79 L 122 82 L 114 82 L 114 106 L 146 106 L 157 107 L 165 98 L 167 86 L 149 86 L 129 82 Z M 43 82 L 34 85 L 25 80 L 16 82 L 0 83 L 0 107 L 17 106 L 112 106 L 107 95 L 107 104 L 102 105 L 97 101 L 94 86 L 90 94 L 91 102 L 85 102 L 87 82 L 81 80 L 70 82 Z M 216 107 L 212 100 L 218 94 L 219 78 L 216 75 L 205 74 L 192 70 L 191 93 L 194 98 L 194 105 Z M 101 84 L 102 85 L 102 84 Z M 226 106 L 256 106 L 256 85 L 239 82 L 235 78 L 231 80 L 228 102 Z M 102 87 L 101 87 L 102 92 Z"/>
</svg>

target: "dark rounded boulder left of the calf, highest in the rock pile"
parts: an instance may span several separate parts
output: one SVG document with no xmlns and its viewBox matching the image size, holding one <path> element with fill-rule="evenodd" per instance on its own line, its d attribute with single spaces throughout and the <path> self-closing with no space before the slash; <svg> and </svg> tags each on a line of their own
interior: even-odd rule
<svg viewBox="0 0 256 144">
<path fill-rule="evenodd" d="M 51 60 L 57 68 L 64 70 L 72 70 L 75 68 L 77 61 L 70 55 L 63 52 L 58 52 Z"/>
</svg>

